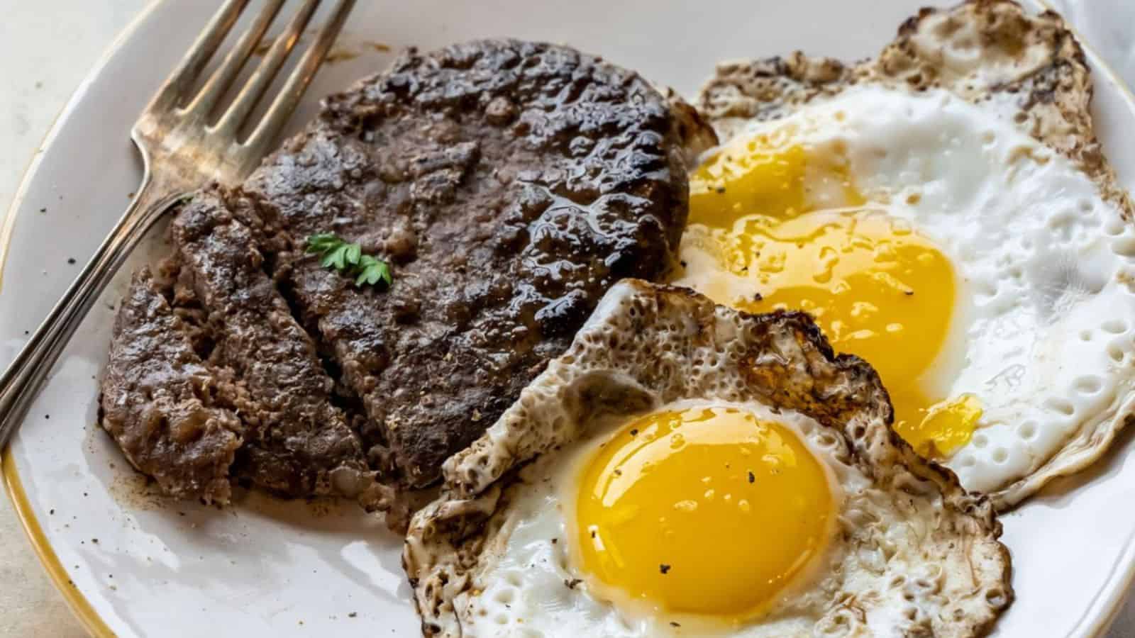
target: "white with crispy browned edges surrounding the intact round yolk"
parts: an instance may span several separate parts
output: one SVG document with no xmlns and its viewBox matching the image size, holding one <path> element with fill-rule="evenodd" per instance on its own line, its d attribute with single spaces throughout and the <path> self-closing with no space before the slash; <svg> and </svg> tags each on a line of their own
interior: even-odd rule
<svg viewBox="0 0 1135 638">
<path fill-rule="evenodd" d="M 784 422 L 831 471 L 827 548 L 762 615 L 674 616 L 592 587 L 572 556 L 580 459 L 614 427 L 597 415 L 625 423 L 682 404 Z M 804 314 L 621 282 L 568 352 L 446 461 L 442 494 L 414 514 L 404 562 L 428 633 L 980 635 L 1012 599 L 1000 524 L 987 501 L 898 445 L 890 415 L 874 371 L 833 356 Z M 760 529 L 751 540 L 777 542 Z"/>
</svg>

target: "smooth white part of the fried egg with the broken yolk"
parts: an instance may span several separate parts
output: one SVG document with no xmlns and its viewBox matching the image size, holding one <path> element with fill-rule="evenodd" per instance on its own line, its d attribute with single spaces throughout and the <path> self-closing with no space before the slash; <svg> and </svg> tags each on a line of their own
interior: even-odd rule
<svg viewBox="0 0 1135 638">
<path fill-rule="evenodd" d="M 867 84 L 740 135 L 792 127 L 813 153 L 838 148 L 868 208 L 942 247 L 959 286 L 927 391 L 983 410 L 945 464 L 1015 502 L 1077 435 L 1135 410 L 1135 226 L 995 108 Z M 679 283 L 723 276 L 697 251 L 683 259 Z"/>
</svg>

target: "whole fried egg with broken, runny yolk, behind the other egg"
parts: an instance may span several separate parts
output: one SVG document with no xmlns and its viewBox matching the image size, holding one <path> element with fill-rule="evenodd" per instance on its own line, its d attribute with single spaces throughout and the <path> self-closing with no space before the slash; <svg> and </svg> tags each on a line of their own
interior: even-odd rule
<svg viewBox="0 0 1135 638">
<path fill-rule="evenodd" d="M 1135 410 L 1135 227 L 1087 101 L 1060 94 L 1084 79 L 1031 78 L 1083 66 L 1053 19 L 968 3 L 858 67 L 723 66 L 701 102 L 733 136 L 691 177 L 674 280 L 812 313 L 878 371 L 898 433 L 999 507 Z"/>
</svg>

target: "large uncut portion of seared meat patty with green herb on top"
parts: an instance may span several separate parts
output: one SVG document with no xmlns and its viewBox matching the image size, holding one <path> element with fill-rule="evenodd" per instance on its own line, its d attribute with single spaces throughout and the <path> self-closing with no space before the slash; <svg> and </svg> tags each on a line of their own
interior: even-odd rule
<svg viewBox="0 0 1135 638">
<path fill-rule="evenodd" d="M 361 397 L 372 463 L 390 455 L 404 485 L 434 481 L 607 287 L 669 269 L 683 136 L 705 131 L 689 118 L 637 74 L 564 47 L 411 51 L 329 96 L 234 193 Z M 302 252 L 317 233 L 392 261 L 394 285 L 321 268 Z"/>
</svg>

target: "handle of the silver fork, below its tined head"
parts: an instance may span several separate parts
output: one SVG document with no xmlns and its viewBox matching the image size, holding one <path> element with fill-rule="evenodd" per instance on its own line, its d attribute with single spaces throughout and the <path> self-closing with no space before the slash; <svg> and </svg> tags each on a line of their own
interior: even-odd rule
<svg viewBox="0 0 1135 638">
<path fill-rule="evenodd" d="M 64 346 L 123 261 L 153 223 L 185 195 L 160 182 L 155 184 L 146 170 L 121 219 L 0 377 L 0 450 L 23 422 Z"/>
</svg>

